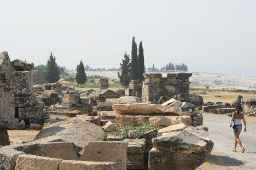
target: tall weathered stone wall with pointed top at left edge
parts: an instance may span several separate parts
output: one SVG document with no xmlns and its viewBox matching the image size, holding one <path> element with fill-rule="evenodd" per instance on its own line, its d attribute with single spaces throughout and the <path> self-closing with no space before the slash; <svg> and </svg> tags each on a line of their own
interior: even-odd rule
<svg viewBox="0 0 256 170">
<path fill-rule="evenodd" d="M 0 131 L 13 130 L 18 124 L 15 118 L 13 77 L 15 69 L 7 52 L 0 53 Z"/>
</svg>

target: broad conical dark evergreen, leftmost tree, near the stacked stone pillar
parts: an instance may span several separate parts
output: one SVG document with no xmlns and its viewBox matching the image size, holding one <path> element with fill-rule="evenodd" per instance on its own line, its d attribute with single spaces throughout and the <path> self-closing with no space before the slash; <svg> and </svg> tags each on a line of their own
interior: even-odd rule
<svg viewBox="0 0 256 170">
<path fill-rule="evenodd" d="M 51 52 L 49 59 L 47 60 L 45 71 L 45 79 L 48 83 L 55 83 L 59 80 L 60 72 L 55 60 L 56 58 L 55 56 L 53 57 Z"/>
</svg>

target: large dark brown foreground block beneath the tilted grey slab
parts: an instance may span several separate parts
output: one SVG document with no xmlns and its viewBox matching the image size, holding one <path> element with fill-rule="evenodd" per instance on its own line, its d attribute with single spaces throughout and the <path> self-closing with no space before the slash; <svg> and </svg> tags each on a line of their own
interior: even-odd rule
<svg viewBox="0 0 256 170">
<path fill-rule="evenodd" d="M 153 148 L 149 154 L 148 169 L 194 170 L 207 161 L 213 147 L 214 143 L 210 141 L 206 150 L 199 154 L 184 154 Z"/>
</svg>

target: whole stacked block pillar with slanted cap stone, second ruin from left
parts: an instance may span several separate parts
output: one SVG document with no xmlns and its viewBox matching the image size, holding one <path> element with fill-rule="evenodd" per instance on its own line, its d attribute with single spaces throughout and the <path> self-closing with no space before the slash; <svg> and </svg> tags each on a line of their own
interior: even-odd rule
<svg viewBox="0 0 256 170">
<path fill-rule="evenodd" d="M 15 96 L 15 117 L 20 121 L 25 119 L 37 119 L 42 117 L 44 103 L 36 103 L 33 95 L 33 63 L 22 60 L 12 61 L 15 68 L 13 78 L 16 89 Z"/>
</svg>

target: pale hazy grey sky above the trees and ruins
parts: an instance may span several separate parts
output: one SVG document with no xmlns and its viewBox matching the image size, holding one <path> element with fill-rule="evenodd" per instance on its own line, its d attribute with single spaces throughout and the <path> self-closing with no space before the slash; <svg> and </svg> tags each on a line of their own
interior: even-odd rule
<svg viewBox="0 0 256 170">
<path fill-rule="evenodd" d="M 256 78 L 256 1 L 2 1 L 0 52 L 11 60 L 118 68 L 142 41 L 146 68 Z"/>
</svg>

